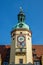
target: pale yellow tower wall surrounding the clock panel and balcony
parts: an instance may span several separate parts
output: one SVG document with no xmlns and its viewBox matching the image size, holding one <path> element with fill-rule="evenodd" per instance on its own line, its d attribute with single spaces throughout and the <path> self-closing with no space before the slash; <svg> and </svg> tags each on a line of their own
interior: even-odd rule
<svg viewBox="0 0 43 65">
<path fill-rule="evenodd" d="M 20 32 L 22 32 L 22 35 L 25 36 L 25 43 L 26 43 L 26 56 L 16 56 L 16 48 L 19 48 L 17 46 L 17 37 L 20 35 Z M 14 62 L 14 63 L 19 63 L 19 62 L 16 62 L 16 61 L 19 61 L 18 59 L 19 58 L 23 58 L 23 63 L 24 64 L 28 64 L 28 63 L 33 63 L 32 61 L 32 40 L 31 40 L 31 33 L 27 30 L 23 31 L 23 30 L 16 30 L 15 32 L 12 33 L 12 35 L 15 34 L 15 36 L 12 37 L 12 43 L 11 43 L 11 53 L 10 53 L 10 63 L 11 62 Z M 14 38 L 14 40 L 13 40 Z"/>
</svg>

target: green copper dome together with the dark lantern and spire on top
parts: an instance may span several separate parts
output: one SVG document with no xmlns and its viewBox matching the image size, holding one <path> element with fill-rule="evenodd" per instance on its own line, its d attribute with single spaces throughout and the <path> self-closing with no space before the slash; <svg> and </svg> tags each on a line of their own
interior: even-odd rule
<svg viewBox="0 0 43 65">
<path fill-rule="evenodd" d="M 27 24 L 25 24 L 25 14 L 22 10 L 22 8 L 20 8 L 20 12 L 18 14 L 18 23 L 17 25 L 15 25 L 12 30 L 15 30 L 15 29 L 27 29 L 29 30 L 29 26 Z"/>
</svg>

